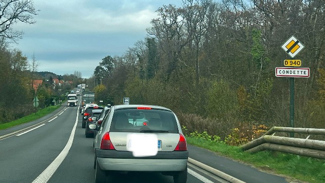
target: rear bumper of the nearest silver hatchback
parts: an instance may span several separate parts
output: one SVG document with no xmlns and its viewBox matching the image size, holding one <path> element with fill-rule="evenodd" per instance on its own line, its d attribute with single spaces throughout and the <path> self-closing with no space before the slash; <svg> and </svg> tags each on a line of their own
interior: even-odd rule
<svg viewBox="0 0 325 183">
<path fill-rule="evenodd" d="M 155 156 L 134 157 L 130 151 L 96 149 L 102 170 L 182 171 L 187 166 L 188 151 L 158 152 Z"/>
</svg>

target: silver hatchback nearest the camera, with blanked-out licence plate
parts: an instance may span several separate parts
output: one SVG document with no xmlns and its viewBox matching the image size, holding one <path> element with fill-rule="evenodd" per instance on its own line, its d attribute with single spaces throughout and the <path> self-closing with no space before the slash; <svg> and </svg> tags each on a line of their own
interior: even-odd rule
<svg viewBox="0 0 325 183">
<path fill-rule="evenodd" d="M 160 106 L 113 106 L 94 138 L 96 183 L 112 171 L 161 172 L 186 183 L 188 151 L 174 112 Z"/>
</svg>

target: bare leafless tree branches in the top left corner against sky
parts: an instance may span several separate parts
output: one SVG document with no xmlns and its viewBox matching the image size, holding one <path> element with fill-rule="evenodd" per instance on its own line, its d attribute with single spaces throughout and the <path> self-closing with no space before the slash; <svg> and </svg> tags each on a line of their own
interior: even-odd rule
<svg viewBox="0 0 325 183">
<path fill-rule="evenodd" d="M 18 22 L 34 24 L 33 15 L 37 12 L 32 0 L 0 0 L 0 37 L 16 41 L 23 36 L 22 31 L 16 31 L 12 26 Z"/>
</svg>

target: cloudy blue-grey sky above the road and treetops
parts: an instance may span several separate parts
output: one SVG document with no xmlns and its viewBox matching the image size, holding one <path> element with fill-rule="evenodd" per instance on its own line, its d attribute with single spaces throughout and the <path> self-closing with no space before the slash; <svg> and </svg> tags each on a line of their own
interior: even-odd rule
<svg viewBox="0 0 325 183">
<path fill-rule="evenodd" d="M 34 0 L 36 24 L 17 24 L 25 35 L 13 44 L 39 63 L 38 71 L 90 77 L 105 56 L 122 56 L 146 37 L 162 5 L 182 0 Z"/>
</svg>

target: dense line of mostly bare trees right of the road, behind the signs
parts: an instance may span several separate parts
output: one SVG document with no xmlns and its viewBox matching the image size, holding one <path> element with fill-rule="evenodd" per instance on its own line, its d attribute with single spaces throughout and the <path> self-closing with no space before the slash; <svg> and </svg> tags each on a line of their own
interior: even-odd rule
<svg viewBox="0 0 325 183">
<path fill-rule="evenodd" d="M 221 137 L 288 126 L 289 78 L 275 68 L 290 59 L 281 45 L 294 35 L 311 71 L 295 79 L 295 127 L 325 128 L 324 0 L 183 0 L 156 12 L 147 37 L 96 67 L 97 100 L 165 106 L 188 129 Z"/>
</svg>

